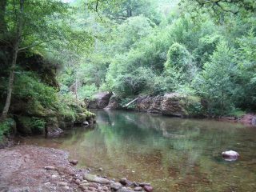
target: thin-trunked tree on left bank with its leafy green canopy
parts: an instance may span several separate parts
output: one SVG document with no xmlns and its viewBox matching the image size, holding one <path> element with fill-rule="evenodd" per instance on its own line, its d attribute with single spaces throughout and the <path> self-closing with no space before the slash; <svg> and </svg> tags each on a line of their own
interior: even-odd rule
<svg viewBox="0 0 256 192">
<path fill-rule="evenodd" d="M 2 119 L 6 118 L 10 107 L 19 52 L 46 46 L 48 49 L 50 46 L 63 46 L 63 48 L 70 47 L 77 50 L 78 44 L 82 41 L 90 42 L 91 40 L 88 34 L 73 31 L 70 24 L 66 22 L 66 16 L 70 13 L 66 3 L 54 0 L 7 0 L 5 7 L 7 10 L 3 18 L 7 30 L 1 41 L 10 46 L 12 59 Z"/>
</svg>

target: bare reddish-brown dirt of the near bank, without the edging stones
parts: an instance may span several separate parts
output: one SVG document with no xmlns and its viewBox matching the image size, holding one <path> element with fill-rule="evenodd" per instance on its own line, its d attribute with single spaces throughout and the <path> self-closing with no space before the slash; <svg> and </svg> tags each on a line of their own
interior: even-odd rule
<svg viewBox="0 0 256 192">
<path fill-rule="evenodd" d="M 0 150 L 0 191 L 63 191 L 60 182 L 71 182 L 78 170 L 62 150 L 38 146 L 14 146 Z M 55 170 L 46 170 L 54 166 Z M 67 187 L 66 187 L 67 189 Z M 72 190 L 73 191 L 73 190 Z"/>
</svg>

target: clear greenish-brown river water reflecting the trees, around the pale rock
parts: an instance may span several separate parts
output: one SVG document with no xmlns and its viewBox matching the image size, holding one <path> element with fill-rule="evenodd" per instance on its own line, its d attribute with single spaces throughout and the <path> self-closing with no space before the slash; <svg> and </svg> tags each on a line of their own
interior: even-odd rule
<svg viewBox="0 0 256 192">
<path fill-rule="evenodd" d="M 94 111 L 98 123 L 62 138 L 27 144 L 70 152 L 80 167 L 110 178 L 150 182 L 156 192 L 256 191 L 256 128 L 229 122 L 168 118 L 124 111 Z M 241 157 L 225 162 L 221 153 Z M 103 172 L 97 172 L 103 167 Z"/>
</svg>

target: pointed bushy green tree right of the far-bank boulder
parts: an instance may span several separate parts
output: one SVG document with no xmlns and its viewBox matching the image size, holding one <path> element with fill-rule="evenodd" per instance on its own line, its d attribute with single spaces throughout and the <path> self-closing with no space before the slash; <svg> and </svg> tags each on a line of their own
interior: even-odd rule
<svg viewBox="0 0 256 192">
<path fill-rule="evenodd" d="M 227 46 L 226 42 L 220 42 L 206 62 L 201 79 L 196 86 L 198 92 L 209 102 L 210 114 L 226 114 L 234 106 L 232 97 L 236 94 L 238 66 L 234 50 Z"/>
</svg>

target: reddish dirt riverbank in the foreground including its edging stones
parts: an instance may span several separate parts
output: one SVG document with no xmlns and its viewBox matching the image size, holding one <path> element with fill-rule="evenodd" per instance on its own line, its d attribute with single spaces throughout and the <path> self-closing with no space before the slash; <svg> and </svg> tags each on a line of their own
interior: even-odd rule
<svg viewBox="0 0 256 192">
<path fill-rule="evenodd" d="M 0 150 L 0 191 L 152 191 L 145 183 L 115 182 L 74 167 L 64 150 L 18 145 Z M 144 190 L 143 190 L 143 188 Z"/>
</svg>

